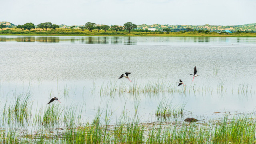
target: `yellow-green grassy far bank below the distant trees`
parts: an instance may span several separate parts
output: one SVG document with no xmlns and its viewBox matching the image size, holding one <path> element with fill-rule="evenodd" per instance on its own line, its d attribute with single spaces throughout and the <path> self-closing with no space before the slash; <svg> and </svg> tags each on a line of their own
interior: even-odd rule
<svg viewBox="0 0 256 144">
<path fill-rule="evenodd" d="M 256 33 L 232 33 L 232 34 L 219 34 L 217 32 L 136 32 L 127 31 L 115 32 L 114 30 L 89 30 L 82 31 L 81 29 L 67 29 L 67 28 L 57 28 L 55 30 L 48 29 L 32 29 L 21 30 L 18 28 L 4 28 L 0 31 L 0 35 L 21 35 L 21 36 L 188 36 L 188 37 L 256 37 Z"/>
</svg>

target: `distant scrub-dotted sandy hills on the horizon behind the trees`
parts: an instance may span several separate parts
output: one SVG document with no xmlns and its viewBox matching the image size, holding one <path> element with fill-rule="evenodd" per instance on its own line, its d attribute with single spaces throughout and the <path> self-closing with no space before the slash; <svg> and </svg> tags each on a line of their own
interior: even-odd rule
<svg viewBox="0 0 256 144">
<path fill-rule="evenodd" d="M 16 25 L 10 23 L 10 22 L 0 22 L 0 24 L 6 25 L 8 28 L 15 28 Z M 97 24 L 100 26 L 100 24 Z M 70 26 L 65 24 L 60 24 L 60 28 L 70 28 Z M 84 25 L 80 25 L 84 26 Z M 75 26 L 75 29 L 78 29 L 79 26 Z M 234 26 L 216 26 L 216 25 L 209 25 L 205 24 L 202 26 L 192 26 L 192 25 L 168 25 L 168 24 L 139 24 L 137 25 L 137 29 L 148 29 L 148 30 L 163 30 L 164 28 L 170 28 L 171 32 L 178 32 L 178 31 L 184 31 L 188 30 L 188 28 L 191 28 L 192 30 L 209 30 L 209 31 L 224 31 L 224 30 L 230 30 L 232 32 L 234 31 L 248 31 L 248 32 L 256 32 L 256 23 L 253 24 L 244 24 L 244 25 L 234 25 Z M 191 30 L 190 29 L 190 30 Z"/>
</svg>

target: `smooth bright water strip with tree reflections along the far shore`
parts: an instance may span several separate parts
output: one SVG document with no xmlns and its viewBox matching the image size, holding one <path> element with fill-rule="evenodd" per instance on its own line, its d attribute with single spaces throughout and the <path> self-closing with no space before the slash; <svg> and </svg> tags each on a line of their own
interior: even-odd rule
<svg viewBox="0 0 256 144">
<path fill-rule="evenodd" d="M 172 45 L 191 43 L 255 43 L 256 38 L 137 37 L 137 36 L 0 36 L 0 42 L 50 42 L 70 44 Z"/>
</svg>

